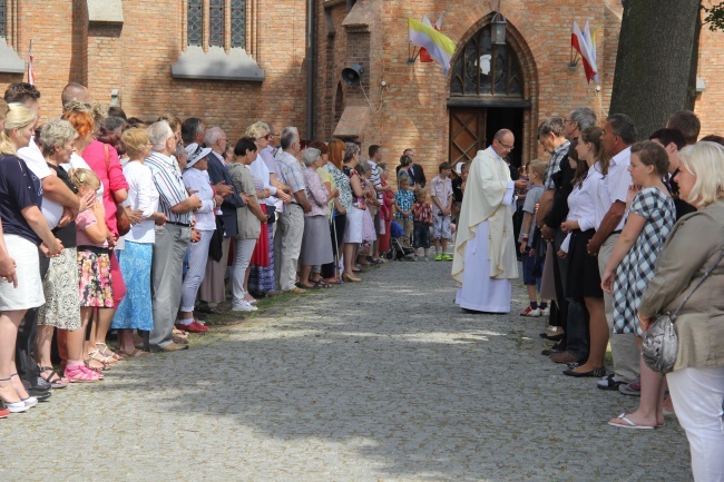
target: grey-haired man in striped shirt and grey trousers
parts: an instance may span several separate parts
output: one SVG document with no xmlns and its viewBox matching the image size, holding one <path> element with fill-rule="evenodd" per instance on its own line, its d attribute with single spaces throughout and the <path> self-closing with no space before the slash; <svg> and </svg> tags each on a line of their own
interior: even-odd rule
<svg viewBox="0 0 724 482">
<path fill-rule="evenodd" d="M 173 342 L 172 331 L 182 295 L 184 255 L 192 237 L 193 212 L 202 200 L 186 191 L 184 179 L 172 153 L 176 136 L 167 121 L 148 127 L 153 150 L 146 159 L 159 194 L 158 209 L 166 215 L 166 225 L 156 226 L 154 245 L 154 331 L 145 342 L 154 352 L 176 352 L 187 345 Z"/>
</svg>

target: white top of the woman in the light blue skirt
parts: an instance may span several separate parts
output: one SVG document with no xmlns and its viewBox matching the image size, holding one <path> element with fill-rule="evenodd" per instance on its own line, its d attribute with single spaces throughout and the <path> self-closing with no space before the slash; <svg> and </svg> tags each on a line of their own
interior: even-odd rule
<svg viewBox="0 0 724 482">
<path fill-rule="evenodd" d="M 128 183 L 128 198 L 124 201 L 124 206 L 140 209 L 146 218 L 133 225 L 125 238 L 133 243 L 153 244 L 156 242 L 155 222 L 148 217 L 158 210 L 159 195 L 150 169 L 141 163 L 130 161 L 124 166 L 124 176 Z"/>
</svg>

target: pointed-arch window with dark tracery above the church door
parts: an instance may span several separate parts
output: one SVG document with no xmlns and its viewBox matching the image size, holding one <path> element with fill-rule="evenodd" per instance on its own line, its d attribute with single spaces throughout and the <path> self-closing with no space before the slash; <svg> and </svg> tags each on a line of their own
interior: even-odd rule
<svg viewBox="0 0 724 482">
<path fill-rule="evenodd" d="M 509 46 L 495 46 L 490 26 L 478 31 L 463 47 L 452 68 L 450 96 L 506 96 L 521 98 L 522 73 Z"/>
</svg>

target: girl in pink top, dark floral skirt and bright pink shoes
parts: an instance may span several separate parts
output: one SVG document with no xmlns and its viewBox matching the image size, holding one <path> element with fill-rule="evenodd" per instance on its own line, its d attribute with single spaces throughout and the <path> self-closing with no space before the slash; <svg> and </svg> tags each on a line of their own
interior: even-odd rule
<svg viewBox="0 0 724 482">
<path fill-rule="evenodd" d="M 69 178 L 81 196 L 88 191 L 96 191 L 100 187 L 100 179 L 90 169 L 71 169 Z M 112 235 L 108 230 L 105 219 L 106 210 L 102 203 L 97 199 L 76 218 L 81 333 L 86 332 L 90 315 L 95 309 L 112 309 L 114 307 L 108 245 Z M 86 348 L 89 356 L 86 364 L 89 368 L 100 372 L 111 363 L 110 357 L 104 356 L 97 350 L 95 340 L 89 341 Z M 66 374 L 69 374 L 68 376 L 72 380 L 74 371 L 80 371 L 79 365 L 82 365 L 84 361 L 70 353 L 68 358 Z M 96 380 L 98 378 L 102 378 L 99 373 Z"/>
</svg>

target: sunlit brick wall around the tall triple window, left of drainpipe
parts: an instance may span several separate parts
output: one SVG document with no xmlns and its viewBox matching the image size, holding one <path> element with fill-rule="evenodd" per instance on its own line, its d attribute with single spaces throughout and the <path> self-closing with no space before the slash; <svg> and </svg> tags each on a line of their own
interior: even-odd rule
<svg viewBox="0 0 724 482">
<path fill-rule="evenodd" d="M 172 112 L 197 116 L 222 126 L 229 138 L 256 120 L 306 130 L 306 2 L 260 0 L 260 67 L 264 82 L 173 79 L 170 67 L 182 53 L 183 4 L 178 0 L 124 0 L 123 29 L 88 30 L 85 0 L 20 0 L 18 45 L 27 58 L 33 39 L 37 87 L 45 118 L 60 112 L 60 92 L 69 81 L 88 85 L 107 104 L 120 89 L 128 116 L 155 119 Z M 0 88 L 23 80 L 0 75 Z"/>
</svg>

